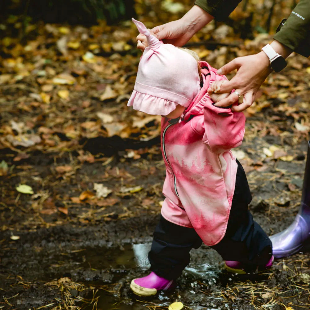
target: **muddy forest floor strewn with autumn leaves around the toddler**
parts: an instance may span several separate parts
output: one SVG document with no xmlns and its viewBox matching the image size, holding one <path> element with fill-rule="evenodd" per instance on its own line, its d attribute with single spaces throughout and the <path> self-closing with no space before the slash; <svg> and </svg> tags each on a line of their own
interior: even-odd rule
<svg viewBox="0 0 310 310">
<path fill-rule="evenodd" d="M 193 310 L 310 308 L 307 249 L 276 259 L 262 275 L 237 276 L 201 246 L 174 290 L 133 295 L 131 279 L 147 272 L 165 178 L 160 117 L 126 106 L 140 56 L 137 31 L 131 22 L 38 23 L 22 42 L 18 23 L 11 17 L 1 38 L 0 309 L 161 310 L 174 301 Z M 193 39 L 215 68 L 271 39 L 243 41 L 225 27 L 218 37 L 209 27 Z M 203 39 L 219 44 L 199 45 Z M 300 205 L 309 68 L 292 55 L 268 77 L 234 149 L 250 184 L 249 208 L 269 235 L 286 228 Z"/>
</svg>

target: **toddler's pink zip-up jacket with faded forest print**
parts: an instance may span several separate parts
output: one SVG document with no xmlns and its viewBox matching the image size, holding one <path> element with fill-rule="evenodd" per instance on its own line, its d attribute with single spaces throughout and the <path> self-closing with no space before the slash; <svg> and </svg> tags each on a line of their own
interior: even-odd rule
<svg viewBox="0 0 310 310">
<path fill-rule="evenodd" d="M 162 117 L 162 155 L 166 164 L 162 216 L 194 228 L 206 245 L 225 235 L 235 189 L 237 162 L 231 148 L 241 144 L 243 113 L 215 107 L 207 93 L 211 82 L 226 77 L 208 67 L 210 75 L 180 121 Z M 205 69 L 202 69 L 204 71 Z"/>
</svg>

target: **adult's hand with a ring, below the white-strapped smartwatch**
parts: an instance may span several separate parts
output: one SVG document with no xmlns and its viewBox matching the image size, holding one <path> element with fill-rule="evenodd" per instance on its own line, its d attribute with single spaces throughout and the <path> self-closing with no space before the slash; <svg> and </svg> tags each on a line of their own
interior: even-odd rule
<svg viewBox="0 0 310 310">
<path fill-rule="evenodd" d="M 243 102 L 232 106 L 233 111 L 240 112 L 252 105 L 256 92 L 272 72 L 272 69 L 269 65 L 269 59 L 263 51 L 255 55 L 235 58 L 221 67 L 217 73 L 225 75 L 234 69 L 237 69 L 237 74 L 230 81 L 221 85 L 217 93 L 227 93 L 235 89 L 239 95 L 243 95 Z M 213 93 L 211 88 L 208 89 L 208 93 L 209 95 Z M 233 92 L 227 98 L 219 100 L 215 105 L 227 107 L 235 103 L 238 97 Z"/>
</svg>

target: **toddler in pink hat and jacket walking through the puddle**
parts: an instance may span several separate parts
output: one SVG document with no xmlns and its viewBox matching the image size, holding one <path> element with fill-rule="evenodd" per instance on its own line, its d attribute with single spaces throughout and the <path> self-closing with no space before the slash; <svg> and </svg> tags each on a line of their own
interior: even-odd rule
<svg viewBox="0 0 310 310">
<path fill-rule="evenodd" d="M 161 43 L 144 24 L 133 22 L 148 47 L 128 106 L 162 115 L 166 198 L 148 254 L 151 273 L 133 279 L 131 290 L 151 296 L 173 286 L 189 263 L 190 250 L 202 242 L 222 256 L 228 271 L 270 268 L 271 241 L 248 211 L 249 185 L 231 152 L 242 142 L 245 116 L 217 107 L 207 93 L 226 78 L 205 61 L 199 61 L 198 70 L 193 55 Z"/>
</svg>

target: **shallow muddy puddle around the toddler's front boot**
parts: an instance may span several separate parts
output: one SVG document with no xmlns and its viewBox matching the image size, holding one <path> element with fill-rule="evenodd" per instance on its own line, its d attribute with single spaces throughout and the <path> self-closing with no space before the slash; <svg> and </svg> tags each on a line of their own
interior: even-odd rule
<svg viewBox="0 0 310 310">
<path fill-rule="evenodd" d="M 213 255 L 209 255 L 211 260 L 209 263 L 196 264 L 191 263 L 184 270 L 183 281 L 187 282 L 186 285 L 177 285 L 174 291 L 161 292 L 155 297 L 142 298 L 131 293 L 129 289 L 130 281 L 133 277 L 140 277 L 148 273 L 149 263 L 148 263 L 148 251 L 151 248 L 151 242 L 138 243 L 138 244 L 124 244 L 117 248 L 101 248 L 97 249 L 96 254 L 87 254 L 91 252 L 91 249 L 87 250 L 84 256 L 85 262 L 83 267 L 87 267 L 87 263 L 93 267 L 93 269 L 104 269 L 109 270 L 111 278 L 107 282 L 122 284 L 119 290 L 112 290 L 110 292 L 105 290 L 99 290 L 96 294 L 98 297 L 98 302 L 96 306 L 98 309 L 108 310 L 108 309 L 120 309 L 120 310 L 146 310 L 149 307 L 156 305 L 156 307 L 167 308 L 173 301 L 187 301 L 187 306 L 193 310 L 220 310 L 228 307 L 220 308 L 206 308 L 205 306 L 199 305 L 197 303 L 190 304 L 188 299 L 191 299 L 190 295 L 195 295 L 193 299 L 209 299 L 209 303 L 214 301 L 214 305 L 219 302 L 223 302 L 222 298 L 205 296 L 203 293 L 197 293 L 193 289 L 197 289 L 201 286 L 198 281 L 203 281 L 207 285 L 215 285 L 219 281 L 219 275 L 221 270 L 219 269 L 219 264 L 216 262 L 217 267 L 212 266 L 212 260 L 216 259 L 217 254 L 205 247 L 204 249 L 192 250 L 192 260 L 201 257 L 202 252 L 213 252 Z M 104 253 L 104 255 L 98 255 L 99 253 Z M 76 259 L 78 260 L 78 259 Z M 103 262 L 104 261 L 104 262 Z M 81 266 L 82 267 L 82 266 Z M 131 276 L 133 275 L 133 276 Z M 91 279 L 87 279 L 91 280 Z M 230 279 L 232 280 L 232 279 Z M 189 281 L 189 282 L 188 282 Z M 96 281 L 98 284 L 98 281 Z M 94 281 L 88 282 L 88 285 Z M 182 298 L 184 296 L 184 298 Z M 186 296 L 186 297 L 185 297 Z M 90 297 L 90 295 L 89 295 Z M 92 309 L 92 306 L 85 308 L 86 310 Z M 160 308 L 159 308 L 160 309 Z"/>
</svg>

